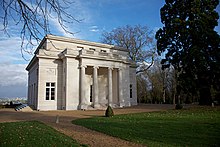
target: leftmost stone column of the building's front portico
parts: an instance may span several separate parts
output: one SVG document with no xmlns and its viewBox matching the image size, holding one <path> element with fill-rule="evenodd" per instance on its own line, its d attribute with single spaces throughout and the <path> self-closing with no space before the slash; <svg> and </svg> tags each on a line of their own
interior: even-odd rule
<svg viewBox="0 0 220 147">
<path fill-rule="evenodd" d="M 86 66 L 84 65 L 80 67 L 80 109 L 87 109 L 85 98 L 85 68 Z"/>
</svg>

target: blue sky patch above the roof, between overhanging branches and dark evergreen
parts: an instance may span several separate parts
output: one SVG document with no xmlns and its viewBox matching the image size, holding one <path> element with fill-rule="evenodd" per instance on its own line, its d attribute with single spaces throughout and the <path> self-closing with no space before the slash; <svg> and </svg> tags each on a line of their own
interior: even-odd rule
<svg viewBox="0 0 220 147">
<path fill-rule="evenodd" d="M 161 27 L 159 9 L 163 0 L 93 0 L 75 1 L 73 13 L 81 23 L 71 28 L 76 38 L 100 41 L 103 31 L 125 25 L 148 25 L 151 29 Z M 60 32 L 54 31 L 54 34 Z M 65 33 L 63 33 L 65 35 Z M 69 35 L 67 35 L 69 36 Z"/>
</svg>

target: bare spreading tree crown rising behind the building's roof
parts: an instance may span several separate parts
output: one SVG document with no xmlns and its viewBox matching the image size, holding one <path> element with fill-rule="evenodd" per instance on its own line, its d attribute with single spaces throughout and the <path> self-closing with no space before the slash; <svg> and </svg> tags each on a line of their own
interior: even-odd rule
<svg viewBox="0 0 220 147">
<path fill-rule="evenodd" d="M 128 57 L 136 63 L 150 62 L 150 65 L 141 64 L 137 73 L 144 72 L 153 65 L 156 44 L 153 31 L 147 26 L 118 27 L 111 32 L 104 32 L 101 42 L 128 49 Z"/>
</svg>

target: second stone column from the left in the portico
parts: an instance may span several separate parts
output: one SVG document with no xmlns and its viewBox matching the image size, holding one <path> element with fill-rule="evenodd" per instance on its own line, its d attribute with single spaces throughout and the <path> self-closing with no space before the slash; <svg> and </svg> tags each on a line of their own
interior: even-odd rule
<svg viewBox="0 0 220 147">
<path fill-rule="evenodd" d="M 94 108 L 99 107 L 99 86 L 98 86 L 98 67 L 93 67 L 93 89 L 92 89 L 92 97 L 94 100 Z"/>
</svg>

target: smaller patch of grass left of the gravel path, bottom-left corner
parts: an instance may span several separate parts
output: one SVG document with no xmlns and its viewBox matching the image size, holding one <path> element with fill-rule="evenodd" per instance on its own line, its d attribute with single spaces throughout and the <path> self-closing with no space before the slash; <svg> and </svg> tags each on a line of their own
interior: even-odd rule
<svg viewBox="0 0 220 147">
<path fill-rule="evenodd" d="M 0 146 L 81 146 L 38 121 L 0 123 Z"/>
</svg>

